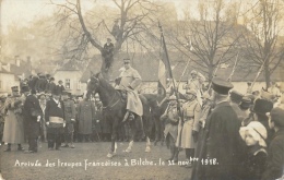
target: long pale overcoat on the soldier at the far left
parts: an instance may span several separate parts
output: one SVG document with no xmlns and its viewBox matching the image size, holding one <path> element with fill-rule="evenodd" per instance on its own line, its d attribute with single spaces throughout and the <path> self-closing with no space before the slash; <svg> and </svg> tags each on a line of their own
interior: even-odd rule
<svg viewBox="0 0 284 180">
<path fill-rule="evenodd" d="M 3 130 L 3 142 L 11 144 L 24 143 L 24 121 L 22 113 L 23 97 L 8 97 L 5 100 L 7 116 Z"/>
</svg>

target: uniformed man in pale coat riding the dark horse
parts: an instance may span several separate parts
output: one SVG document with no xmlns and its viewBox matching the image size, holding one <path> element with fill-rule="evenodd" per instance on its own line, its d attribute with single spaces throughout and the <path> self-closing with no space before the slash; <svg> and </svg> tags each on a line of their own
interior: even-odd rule
<svg viewBox="0 0 284 180">
<path fill-rule="evenodd" d="M 134 115 L 143 115 L 143 106 L 139 98 L 135 88 L 141 84 L 142 79 L 137 70 L 130 65 L 130 59 L 123 59 L 125 70 L 120 73 L 120 76 L 116 80 L 119 84 L 118 88 L 127 92 L 127 113 L 122 120 L 126 121 L 128 117 L 134 118 Z"/>
</svg>

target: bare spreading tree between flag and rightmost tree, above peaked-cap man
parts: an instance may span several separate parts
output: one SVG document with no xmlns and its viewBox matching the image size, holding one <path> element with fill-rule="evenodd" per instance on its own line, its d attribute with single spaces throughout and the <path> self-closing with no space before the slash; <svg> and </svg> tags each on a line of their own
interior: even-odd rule
<svg viewBox="0 0 284 180">
<path fill-rule="evenodd" d="M 228 5 L 222 0 L 200 2 L 200 16 L 185 20 L 171 31 L 171 45 L 204 71 L 209 81 L 220 63 L 230 61 L 237 53 L 234 47 L 240 38 L 240 27 L 236 25 L 235 15 L 227 17 Z"/>
</svg>

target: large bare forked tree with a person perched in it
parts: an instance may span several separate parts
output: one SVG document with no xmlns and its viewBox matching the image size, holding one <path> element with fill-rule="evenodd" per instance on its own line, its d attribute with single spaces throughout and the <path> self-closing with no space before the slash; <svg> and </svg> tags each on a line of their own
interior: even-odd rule
<svg viewBox="0 0 284 180">
<path fill-rule="evenodd" d="M 99 15 L 92 12 L 83 14 L 81 0 L 75 2 L 66 0 L 64 3 L 51 1 L 51 3 L 59 7 L 60 13 L 63 14 L 60 21 L 64 25 L 68 24 L 71 27 L 74 22 L 80 24 L 80 28 L 74 26 L 78 35 L 81 34 L 81 41 L 78 44 L 78 47 L 81 50 L 86 50 L 91 44 L 92 47 L 100 52 L 103 60 L 100 71 L 107 79 L 109 77 L 107 64 L 111 65 L 113 61 L 106 62 L 107 59 L 103 56 L 104 43 L 102 43 L 102 36 L 104 36 L 104 40 L 106 37 L 113 36 L 113 39 L 115 39 L 114 55 L 117 55 L 127 39 L 138 39 L 138 35 L 147 26 L 147 16 L 156 10 L 156 5 L 150 0 L 113 0 L 111 3 L 115 7 L 111 10 L 113 14 L 105 15 L 104 19 L 103 14 L 106 12 Z M 94 25 L 94 19 L 96 20 L 96 25 Z"/>
</svg>

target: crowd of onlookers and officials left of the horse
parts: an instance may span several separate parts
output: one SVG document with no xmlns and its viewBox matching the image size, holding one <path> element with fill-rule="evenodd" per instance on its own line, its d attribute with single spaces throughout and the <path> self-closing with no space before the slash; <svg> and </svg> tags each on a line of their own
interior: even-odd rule
<svg viewBox="0 0 284 180">
<path fill-rule="evenodd" d="M 48 74 L 31 76 L 0 97 L 0 139 L 11 152 L 12 144 L 25 153 L 36 153 L 38 144 L 49 149 L 74 148 L 74 142 L 110 141 L 109 124 L 104 121 L 98 97 L 73 96 L 62 81 L 55 84 Z"/>
</svg>

